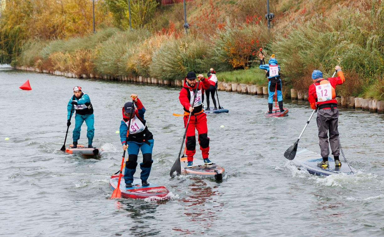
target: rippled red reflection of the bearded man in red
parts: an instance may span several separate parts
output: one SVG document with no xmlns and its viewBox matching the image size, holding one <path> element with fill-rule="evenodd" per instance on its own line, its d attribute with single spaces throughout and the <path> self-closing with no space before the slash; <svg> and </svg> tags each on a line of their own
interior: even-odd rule
<svg viewBox="0 0 384 237">
<path fill-rule="evenodd" d="M 204 179 L 196 178 L 195 182 L 189 185 L 189 190 L 192 193 L 183 199 L 182 202 L 186 202 L 185 215 L 190 218 L 190 221 L 194 221 L 196 224 L 204 225 L 205 229 L 209 229 L 214 226 L 214 221 L 220 219 L 220 215 L 217 214 L 218 208 L 224 206 L 225 203 L 212 201 L 213 196 L 220 194 L 215 190 L 218 186 L 214 182 L 208 181 L 210 187 L 207 185 Z M 192 207 L 192 208 L 188 208 Z M 194 231 L 185 229 L 174 229 L 181 232 L 192 233 Z"/>
</svg>

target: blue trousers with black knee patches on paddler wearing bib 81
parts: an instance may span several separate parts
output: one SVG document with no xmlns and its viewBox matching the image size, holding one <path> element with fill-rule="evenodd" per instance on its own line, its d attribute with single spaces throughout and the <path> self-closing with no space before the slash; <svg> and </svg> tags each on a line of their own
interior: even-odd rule
<svg viewBox="0 0 384 237">
<path fill-rule="evenodd" d="M 137 155 L 139 154 L 139 149 L 141 150 L 141 153 L 143 154 L 143 162 L 140 163 L 140 179 L 142 181 L 147 181 L 149 177 L 149 173 L 151 173 L 152 168 L 152 149 L 153 149 L 153 139 L 148 140 L 148 143 L 142 142 L 127 142 L 127 151 L 128 151 L 128 160 L 125 163 L 125 170 L 124 170 L 124 181 L 125 183 L 132 183 L 133 182 L 133 175 L 136 172 L 136 166 L 137 166 Z"/>
</svg>

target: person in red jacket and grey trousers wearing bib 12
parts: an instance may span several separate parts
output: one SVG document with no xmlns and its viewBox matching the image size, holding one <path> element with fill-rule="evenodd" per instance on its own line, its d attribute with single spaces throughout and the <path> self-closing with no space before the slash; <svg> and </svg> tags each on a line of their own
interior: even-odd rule
<svg viewBox="0 0 384 237">
<path fill-rule="evenodd" d="M 336 66 L 338 77 L 329 77 L 323 79 L 323 73 L 318 70 L 313 70 L 312 81 L 313 84 L 309 88 L 308 100 L 312 109 L 318 109 L 317 112 L 317 127 L 319 130 L 319 145 L 321 150 L 321 156 L 323 161 L 318 163 L 321 168 L 328 168 L 328 156 L 329 145 L 328 135 L 329 131 L 329 143 L 331 144 L 332 155 L 335 160 L 335 166 L 340 167 L 341 162 L 339 160 L 340 146 L 338 142 L 338 119 L 339 110 L 337 108 L 336 101 L 336 85 L 344 83 L 344 74 L 341 71 L 341 67 Z"/>
</svg>

